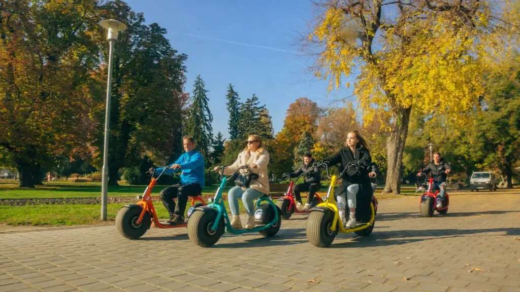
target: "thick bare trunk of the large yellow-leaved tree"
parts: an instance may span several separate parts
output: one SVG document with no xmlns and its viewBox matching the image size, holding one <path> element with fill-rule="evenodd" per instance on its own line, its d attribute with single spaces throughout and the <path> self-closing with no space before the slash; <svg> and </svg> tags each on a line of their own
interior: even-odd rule
<svg viewBox="0 0 520 292">
<path fill-rule="evenodd" d="M 399 194 L 401 192 L 401 162 L 408 136 L 408 123 L 412 108 L 397 110 L 392 130 L 386 140 L 386 157 L 388 169 L 384 192 Z"/>
</svg>

